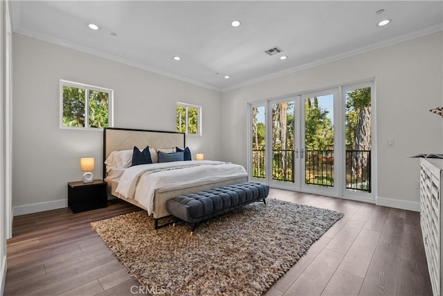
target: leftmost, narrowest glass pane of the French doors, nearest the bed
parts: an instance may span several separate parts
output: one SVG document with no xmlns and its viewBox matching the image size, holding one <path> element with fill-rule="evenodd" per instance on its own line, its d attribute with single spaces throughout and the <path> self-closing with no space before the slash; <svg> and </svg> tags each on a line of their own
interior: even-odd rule
<svg viewBox="0 0 443 296">
<path fill-rule="evenodd" d="M 266 177 L 266 125 L 265 106 L 252 107 L 252 173 L 253 177 Z"/>
</svg>

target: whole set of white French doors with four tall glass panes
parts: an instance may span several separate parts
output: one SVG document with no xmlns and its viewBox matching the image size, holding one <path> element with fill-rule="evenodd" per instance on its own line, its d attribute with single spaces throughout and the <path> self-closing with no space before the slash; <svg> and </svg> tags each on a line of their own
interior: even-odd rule
<svg viewBox="0 0 443 296">
<path fill-rule="evenodd" d="M 371 200 L 372 85 L 363 86 L 250 104 L 251 179 Z"/>
</svg>

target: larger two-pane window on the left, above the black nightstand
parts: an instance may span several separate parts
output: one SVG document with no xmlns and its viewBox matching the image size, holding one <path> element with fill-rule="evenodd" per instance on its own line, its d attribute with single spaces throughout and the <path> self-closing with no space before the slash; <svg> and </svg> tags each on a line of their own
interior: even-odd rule
<svg viewBox="0 0 443 296">
<path fill-rule="evenodd" d="M 114 91 L 60 80 L 60 128 L 107 128 Z"/>
</svg>

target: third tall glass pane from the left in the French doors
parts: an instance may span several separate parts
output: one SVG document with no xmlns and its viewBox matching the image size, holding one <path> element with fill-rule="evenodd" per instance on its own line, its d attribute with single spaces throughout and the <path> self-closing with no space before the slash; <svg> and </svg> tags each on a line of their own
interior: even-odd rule
<svg viewBox="0 0 443 296">
<path fill-rule="evenodd" d="M 305 99 L 305 184 L 334 186 L 334 95 Z"/>
</svg>

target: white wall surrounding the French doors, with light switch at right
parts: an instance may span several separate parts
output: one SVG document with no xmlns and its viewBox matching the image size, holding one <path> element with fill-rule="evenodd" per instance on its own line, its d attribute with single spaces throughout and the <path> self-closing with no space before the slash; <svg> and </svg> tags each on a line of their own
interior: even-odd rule
<svg viewBox="0 0 443 296">
<path fill-rule="evenodd" d="M 443 118 L 428 111 L 443 104 L 442 52 L 434 33 L 224 92 L 223 157 L 246 166 L 246 103 L 375 78 L 377 197 L 417 203 L 419 160 L 408 157 L 443 153 Z"/>
</svg>

